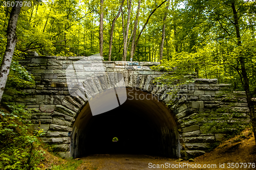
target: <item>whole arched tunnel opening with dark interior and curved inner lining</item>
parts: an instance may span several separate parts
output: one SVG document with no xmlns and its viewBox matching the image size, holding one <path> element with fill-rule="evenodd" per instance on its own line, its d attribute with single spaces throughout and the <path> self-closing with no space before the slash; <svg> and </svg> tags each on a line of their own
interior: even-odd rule
<svg viewBox="0 0 256 170">
<path fill-rule="evenodd" d="M 170 109 L 147 91 L 126 87 L 127 100 L 108 112 L 92 115 L 86 104 L 76 117 L 70 152 L 146 154 L 180 157 L 179 133 Z"/>
</svg>

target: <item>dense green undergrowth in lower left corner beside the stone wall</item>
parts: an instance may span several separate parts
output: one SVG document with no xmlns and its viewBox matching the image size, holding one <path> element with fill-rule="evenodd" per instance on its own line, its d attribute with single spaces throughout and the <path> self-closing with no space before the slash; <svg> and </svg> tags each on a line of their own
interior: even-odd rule
<svg viewBox="0 0 256 170">
<path fill-rule="evenodd" d="M 9 106 L 10 112 L 0 111 L 0 169 L 37 169 L 37 164 L 44 159 L 44 151 L 39 151 L 38 136 L 30 133 L 25 118 L 30 112 L 22 107 Z"/>
</svg>

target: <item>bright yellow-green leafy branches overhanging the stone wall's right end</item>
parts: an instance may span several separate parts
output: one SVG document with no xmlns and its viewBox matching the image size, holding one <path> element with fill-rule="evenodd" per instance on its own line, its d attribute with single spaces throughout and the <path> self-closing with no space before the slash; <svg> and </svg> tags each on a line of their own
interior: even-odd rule
<svg viewBox="0 0 256 170">
<path fill-rule="evenodd" d="M 250 80 L 252 95 L 255 96 L 255 68 L 256 68 L 256 41 L 255 39 L 243 38 L 241 46 L 234 42 L 226 42 L 222 50 L 225 53 L 218 58 L 215 57 L 215 44 L 208 44 L 203 48 L 194 47 L 194 53 L 173 53 L 170 60 L 163 59 L 161 65 L 152 66 L 153 70 L 168 71 L 162 77 L 156 78 L 155 82 L 162 84 L 173 84 L 179 82 L 192 82 L 191 78 L 218 79 L 219 83 L 232 85 L 233 90 L 243 90 L 241 84 L 241 71 L 238 65 L 240 56 L 246 59 L 246 69 Z M 232 50 L 228 50 L 232 46 Z M 239 74 L 240 73 L 240 74 Z M 191 76 L 188 76 L 191 75 Z"/>
</svg>

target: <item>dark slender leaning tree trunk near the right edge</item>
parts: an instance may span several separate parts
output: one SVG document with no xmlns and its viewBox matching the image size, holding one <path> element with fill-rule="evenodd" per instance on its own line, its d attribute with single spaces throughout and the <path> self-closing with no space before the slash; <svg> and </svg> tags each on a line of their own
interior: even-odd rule
<svg viewBox="0 0 256 170">
<path fill-rule="evenodd" d="M 232 8 L 233 18 L 234 18 L 234 29 L 236 30 L 236 34 L 237 34 L 238 45 L 240 46 L 242 42 L 241 42 L 238 14 L 237 14 L 237 10 L 236 10 L 236 6 L 234 5 L 234 2 L 231 2 L 231 8 Z M 250 92 L 249 78 L 247 76 L 247 71 L 245 67 L 246 63 L 242 55 L 239 56 L 239 62 L 241 66 L 242 85 L 246 94 L 246 101 L 249 108 L 249 114 L 250 114 L 253 133 L 254 133 L 254 139 L 256 142 L 256 115 L 255 115 L 254 104 L 253 104 L 253 101 L 251 100 L 252 96 Z"/>
</svg>

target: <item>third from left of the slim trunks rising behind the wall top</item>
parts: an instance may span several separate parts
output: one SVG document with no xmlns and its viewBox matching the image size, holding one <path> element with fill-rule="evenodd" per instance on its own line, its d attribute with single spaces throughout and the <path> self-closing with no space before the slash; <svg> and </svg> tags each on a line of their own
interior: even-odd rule
<svg viewBox="0 0 256 170">
<path fill-rule="evenodd" d="M 130 2 L 130 4 L 129 4 L 129 2 Z M 124 35 L 123 35 L 123 58 L 122 58 L 122 61 L 126 61 L 126 56 L 127 56 L 127 40 L 128 40 L 128 36 L 129 36 L 132 0 L 127 0 L 127 8 L 128 8 L 128 14 L 127 14 L 126 29 L 125 29 Z"/>
</svg>

